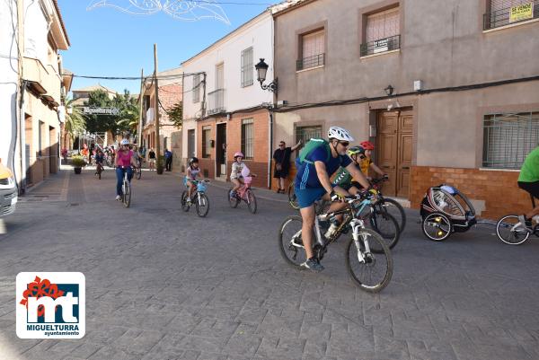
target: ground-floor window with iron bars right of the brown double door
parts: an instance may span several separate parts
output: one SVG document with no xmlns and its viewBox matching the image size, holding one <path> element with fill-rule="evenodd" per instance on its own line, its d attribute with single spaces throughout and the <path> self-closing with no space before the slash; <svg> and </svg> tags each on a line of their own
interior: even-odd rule
<svg viewBox="0 0 539 360">
<path fill-rule="evenodd" d="M 537 145 L 539 111 L 484 117 L 483 167 L 518 170 Z"/>
</svg>

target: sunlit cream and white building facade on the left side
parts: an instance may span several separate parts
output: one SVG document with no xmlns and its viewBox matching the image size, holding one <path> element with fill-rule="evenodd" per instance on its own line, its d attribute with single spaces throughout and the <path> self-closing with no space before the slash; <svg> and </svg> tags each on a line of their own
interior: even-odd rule
<svg viewBox="0 0 539 360">
<path fill-rule="evenodd" d="M 62 103 L 70 79 L 62 76 L 58 50 L 67 50 L 70 43 L 57 1 L 23 3 L 20 143 L 24 146 L 17 149 L 22 166 L 16 172 L 25 189 L 59 170 Z"/>
</svg>

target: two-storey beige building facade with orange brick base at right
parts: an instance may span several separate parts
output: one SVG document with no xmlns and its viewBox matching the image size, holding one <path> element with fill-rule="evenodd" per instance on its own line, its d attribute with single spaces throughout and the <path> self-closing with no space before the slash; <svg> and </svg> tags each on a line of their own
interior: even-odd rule
<svg viewBox="0 0 539 360">
<path fill-rule="evenodd" d="M 517 176 L 539 142 L 539 4 L 298 1 L 274 13 L 274 143 L 345 127 L 376 145 L 385 195 L 418 207 L 440 182 L 486 217 L 529 208 Z M 535 2 L 537 3 L 537 2 Z M 499 194 L 507 194 L 503 204 Z"/>
</svg>

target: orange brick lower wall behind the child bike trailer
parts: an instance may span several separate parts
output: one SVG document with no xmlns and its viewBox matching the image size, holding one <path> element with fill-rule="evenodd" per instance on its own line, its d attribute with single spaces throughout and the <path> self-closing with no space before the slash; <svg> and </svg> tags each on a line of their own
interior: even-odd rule
<svg viewBox="0 0 539 360">
<path fill-rule="evenodd" d="M 518 188 L 518 171 L 483 171 L 429 166 L 411 168 L 411 207 L 419 208 L 429 187 L 441 183 L 455 186 L 467 198 L 484 201 L 482 218 L 497 220 L 502 215 L 521 214 L 532 204 L 528 193 Z"/>
</svg>

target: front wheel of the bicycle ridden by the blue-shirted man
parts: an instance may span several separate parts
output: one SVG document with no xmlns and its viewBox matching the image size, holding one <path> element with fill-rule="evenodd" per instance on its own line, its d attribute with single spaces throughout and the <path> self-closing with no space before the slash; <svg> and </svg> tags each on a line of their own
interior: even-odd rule
<svg viewBox="0 0 539 360">
<path fill-rule="evenodd" d="M 369 250 L 367 250 L 367 245 Z M 381 249 L 380 253 L 372 248 Z M 391 250 L 380 234 L 370 229 L 358 231 L 358 241 L 350 238 L 345 251 L 346 268 L 352 281 L 368 293 L 379 293 L 393 276 Z"/>
</svg>

